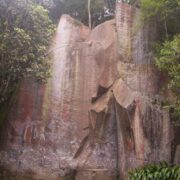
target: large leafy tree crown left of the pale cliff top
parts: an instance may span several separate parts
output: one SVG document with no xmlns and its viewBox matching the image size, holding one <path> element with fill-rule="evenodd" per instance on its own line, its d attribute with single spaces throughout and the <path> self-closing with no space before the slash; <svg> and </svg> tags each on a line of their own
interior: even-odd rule
<svg viewBox="0 0 180 180">
<path fill-rule="evenodd" d="M 25 77 L 45 82 L 45 53 L 54 32 L 48 11 L 25 0 L 0 2 L 0 104 Z"/>
</svg>

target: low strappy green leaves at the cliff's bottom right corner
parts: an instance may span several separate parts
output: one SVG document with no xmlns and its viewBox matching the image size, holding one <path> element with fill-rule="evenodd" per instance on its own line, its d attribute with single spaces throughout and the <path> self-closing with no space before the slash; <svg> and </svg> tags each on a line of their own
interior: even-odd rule
<svg viewBox="0 0 180 180">
<path fill-rule="evenodd" d="M 129 180 L 180 180 L 180 166 L 169 166 L 165 162 L 147 165 L 129 172 Z"/>
</svg>

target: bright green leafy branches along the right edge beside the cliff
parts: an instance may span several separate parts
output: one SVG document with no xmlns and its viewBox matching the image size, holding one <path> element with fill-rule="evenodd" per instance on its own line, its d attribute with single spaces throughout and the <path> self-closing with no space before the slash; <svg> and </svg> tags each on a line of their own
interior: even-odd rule
<svg viewBox="0 0 180 180">
<path fill-rule="evenodd" d="M 180 35 L 176 35 L 173 40 L 166 40 L 160 46 L 155 60 L 158 69 L 169 76 L 168 87 L 176 97 L 171 104 L 173 118 L 178 119 L 180 117 Z"/>
</svg>

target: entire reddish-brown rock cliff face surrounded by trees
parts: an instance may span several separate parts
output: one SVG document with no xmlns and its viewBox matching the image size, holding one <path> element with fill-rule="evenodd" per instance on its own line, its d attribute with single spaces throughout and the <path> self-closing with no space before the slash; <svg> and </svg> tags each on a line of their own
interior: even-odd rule
<svg viewBox="0 0 180 180">
<path fill-rule="evenodd" d="M 93 30 L 64 15 L 48 84 L 22 82 L 4 128 L 1 165 L 34 178 L 126 179 L 143 164 L 171 161 L 171 125 L 153 67 L 152 25 L 117 4 Z M 154 26 L 153 26 L 154 27 Z"/>
</svg>

